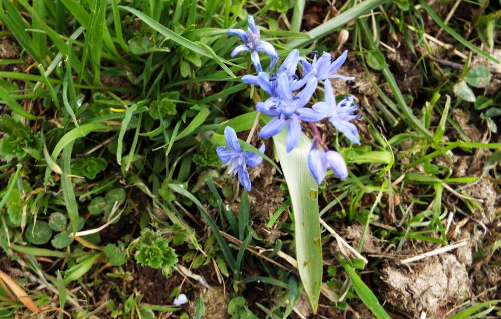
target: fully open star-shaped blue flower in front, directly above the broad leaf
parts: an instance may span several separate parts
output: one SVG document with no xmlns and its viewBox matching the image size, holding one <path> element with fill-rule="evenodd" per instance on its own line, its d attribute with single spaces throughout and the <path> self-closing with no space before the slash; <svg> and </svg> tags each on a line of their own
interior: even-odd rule
<svg viewBox="0 0 501 319">
<path fill-rule="evenodd" d="M 326 117 L 325 113 L 304 107 L 311 99 L 313 92 L 315 92 L 316 85 L 316 79 L 310 78 L 304 89 L 293 96 L 293 90 L 287 74 L 285 72 L 279 73 L 275 103 L 268 104 L 264 102 L 256 104 L 256 110 L 274 116 L 261 129 L 259 136 L 263 138 L 272 137 L 288 125 L 285 138 L 286 149 L 287 152 L 292 151 L 301 137 L 301 122 L 299 120 L 317 122 Z"/>
</svg>

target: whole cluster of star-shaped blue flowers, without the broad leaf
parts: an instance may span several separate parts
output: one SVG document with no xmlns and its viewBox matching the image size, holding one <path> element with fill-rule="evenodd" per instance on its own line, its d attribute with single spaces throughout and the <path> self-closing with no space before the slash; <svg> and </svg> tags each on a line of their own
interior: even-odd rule
<svg viewBox="0 0 501 319">
<path fill-rule="evenodd" d="M 258 86 L 269 94 L 266 100 L 256 104 L 257 111 L 272 117 L 261 129 L 259 136 L 270 138 L 287 129 L 286 150 L 290 152 L 301 137 L 301 121 L 308 122 L 315 133 L 308 155 L 308 168 L 311 175 L 318 184 L 325 178 L 328 168 L 339 178 L 348 177 L 348 169 L 343 156 L 327 148 L 314 124 L 327 119 L 338 132 L 343 133 L 351 142 L 360 143 L 357 127 L 350 122 L 350 120 L 362 116 L 360 113 L 354 114 L 358 109 L 358 104 L 354 102 L 353 97 L 345 97 L 337 102 L 330 82 L 331 79 L 354 80 L 353 77 L 336 73 L 347 58 L 347 51 L 344 51 L 336 59 L 328 52 L 323 53 L 318 58 L 317 53 L 314 52 L 314 57 L 310 62 L 306 58 L 300 57 L 299 51 L 295 49 L 285 58 L 276 73 L 269 74 L 262 70 L 258 52 L 270 56 L 270 70 L 278 60 L 278 52 L 270 43 L 260 40 L 259 29 L 257 29 L 252 16 L 248 16 L 248 22 L 247 32 L 230 29 L 228 34 L 237 35 L 246 43 L 236 47 L 231 56 L 234 57 L 243 51 L 251 51 L 251 60 L 257 71 L 257 75 L 244 75 L 242 81 Z M 301 76 L 298 76 L 297 72 L 299 62 L 302 66 Z M 325 101 L 319 101 L 312 107 L 308 107 L 319 81 L 323 81 Z M 261 163 L 262 158 L 257 154 L 243 152 L 232 128 L 226 127 L 225 138 L 230 149 L 220 146 L 217 149 L 217 154 L 221 161 L 226 162 L 225 166 L 231 165 L 230 173 L 234 171 L 233 176 L 238 173 L 240 183 L 245 189 L 250 190 L 251 184 L 246 165 L 257 166 Z M 264 151 L 264 145 L 260 151 Z"/>
</svg>

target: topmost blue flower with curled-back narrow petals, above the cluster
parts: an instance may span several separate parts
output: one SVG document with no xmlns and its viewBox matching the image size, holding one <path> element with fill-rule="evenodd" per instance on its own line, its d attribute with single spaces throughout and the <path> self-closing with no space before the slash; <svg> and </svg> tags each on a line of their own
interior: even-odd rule
<svg viewBox="0 0 501 319">
<path fill-rule="evenodd" d="M 241 29 L 230 29 L 226 32 L 228 35 L 238 36 L 245 44 L 236 47 L 231 53 L 231 57 L 234 58 L 237 54 L 244 51 L 251 51 L 251 60 L 254 63 L 254 67 L 257 72 L 263 71 L 261 67 L 261 61 L 259 60 L 258 51 L 264 52 L 270 56 L 270 70 L 277 61 L 279 55 L 273 45 L 266 41 L 260 40 L 259 29 L 256 27 L 256 22 L 254 17 L 251 15 L 247 16 L 247 21 L 249 22 L 249 28 L 247 31 Z"/>
</svg>

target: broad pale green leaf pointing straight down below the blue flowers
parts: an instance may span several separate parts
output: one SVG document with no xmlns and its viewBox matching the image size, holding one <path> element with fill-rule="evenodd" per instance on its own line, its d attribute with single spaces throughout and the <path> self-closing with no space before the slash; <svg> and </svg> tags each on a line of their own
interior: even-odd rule
<svg viewBox="0 0 501 319">
<path fill-rule="evenodd" d="M 316 313 L 322 284 L 322 244 L 318 214 L 318 185 L 308 170 L 311 142 L 302 134 L 299 143 L 290 153 L 287 153 L 285 148 L 285 131 L 275 135 L 273 142 L 292 202 L 299 275 L 311 309 Z"/>
</svg>

